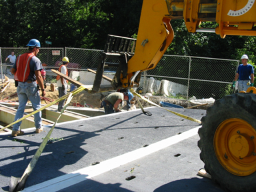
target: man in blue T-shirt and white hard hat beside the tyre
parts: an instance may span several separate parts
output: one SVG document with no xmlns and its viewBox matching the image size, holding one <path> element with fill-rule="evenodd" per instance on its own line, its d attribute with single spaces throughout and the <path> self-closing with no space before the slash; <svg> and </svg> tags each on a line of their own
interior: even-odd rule
<svg viewBox="0 0 256 192">
<path fill-rule="evenodd" d="M 235 79 L 233 81 L 233 87 L 238 79 L 238 92 L 247 91 L 249 87 L 253 86 L 254 81 L 254 71 L 253 65 L 248 64 L 248 56 L 243 55 L 241 57 L 242 64 L 239 65 L 237 73 L 235 73 Z"/>
</svg>

